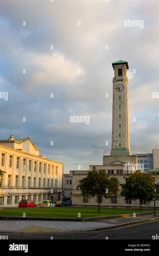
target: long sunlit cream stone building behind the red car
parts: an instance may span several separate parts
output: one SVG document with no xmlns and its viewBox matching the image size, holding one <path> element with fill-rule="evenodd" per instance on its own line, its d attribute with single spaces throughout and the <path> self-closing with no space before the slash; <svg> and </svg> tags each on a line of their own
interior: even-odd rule
<svg viewBox="0 0 159 256">
<path fill-rule="evenodd" d="M 18 206 L 21 199 L 61 200 L 63 163 L 39 151 L 29 137 L 0 140 L 0 207 Z"/>
</svg>

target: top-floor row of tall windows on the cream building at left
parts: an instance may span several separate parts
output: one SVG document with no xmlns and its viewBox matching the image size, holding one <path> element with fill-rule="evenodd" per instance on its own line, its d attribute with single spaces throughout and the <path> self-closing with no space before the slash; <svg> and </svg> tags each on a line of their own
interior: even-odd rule
<svg viewBox="0 0 159 256">
<path fill-rule="evenodd" d="M 23 170 L 26 170 L 27 158 L 23 158 Z M 5 153 L 1 153 L 1 166 L 5 164 Z M 29 171 L 32 170 L 33 160 L 29 160 Z M 12 168 L 13 165 L 13 155 L 9 155 L 9 167 Z M 34 171 L 37 171 L 37 161 L 34 161 Z M 16 169 L 20 167 L 20 157 L 16 157 Z M 42 171 L 42 162 L 39 163 L 39 172 Z M 58 166 L 56 166 L 55 173 L 57 175 Z M 51 174 L 54 172 L 54 165 L 51 166 Z M 44 173 L 46 173 L 46 163 L 44 163 Z M 50 174 L 50 164 L 48 164 L 48 174 Z"/>
</svg>

